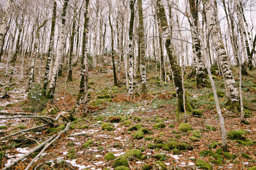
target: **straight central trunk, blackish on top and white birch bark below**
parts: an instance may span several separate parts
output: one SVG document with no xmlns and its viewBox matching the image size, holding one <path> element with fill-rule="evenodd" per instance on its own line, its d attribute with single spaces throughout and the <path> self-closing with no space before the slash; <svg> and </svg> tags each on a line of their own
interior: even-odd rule
<svg viewBox="0 0 256 170">
<path fill-rule="evenodd" d="M 129 89 L 128 94 L 133 94 L 133 25 L 134 25 L 134 3 L 135 0 L 130 1 L 131 18 L 129 24 Z"/>
</svg>

